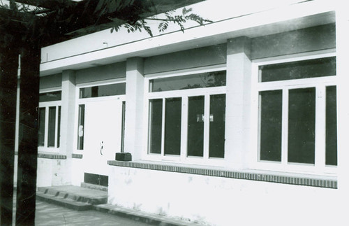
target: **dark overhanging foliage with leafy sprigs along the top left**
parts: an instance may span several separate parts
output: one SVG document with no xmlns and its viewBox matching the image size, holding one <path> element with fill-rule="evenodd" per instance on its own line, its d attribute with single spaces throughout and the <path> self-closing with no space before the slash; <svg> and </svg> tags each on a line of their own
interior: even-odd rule
<svg viewBox="0 0 349 226">
<path fill-rule="evenodd" d="M 195 1 L 201 0 L 191 0 Z M 191 8 L 183 8 L 178 15 L 178 11 L 170 10 L 154 16 L 177 5 L 172 0 L 0 0 L 0 34 L 19 34 L 22 41 L 40 38 L 58 42 L 101 29 L 119 31 L 121 27 L 129 33 L 144 30 L 153 36 L 151 20 L 159 22 L 159 32 L 166 31 L 170 23 L 184 31 L 188 21 L 199 25 L 211 22 Z"/>
</svg>

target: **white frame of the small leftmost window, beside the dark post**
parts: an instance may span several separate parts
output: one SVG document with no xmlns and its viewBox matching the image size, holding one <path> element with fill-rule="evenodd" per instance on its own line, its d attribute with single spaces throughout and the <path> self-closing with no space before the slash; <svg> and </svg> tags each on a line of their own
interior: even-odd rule
<svg viewBox="0 0 349 226">
<path fill-rule="evenodd" d="M 45 90 L 40 90 L 40 94 L 47 93 L 47 92 L 57 92 L 61 91 L 61 88 L 55 88 L 55 89 L 45 89 Z M 59 106 L 61 106 L 61 101 L 45 101 L 45 102 L 39 102 L 38 108 L 45 108 L 45 141 L 44 141 L 44 146 L 38 146 L 38 151 L 39 152 L 54 152 L 57 153 L 59 152 L 59 148 L 57 147 L 57 139 L 60 134 L 58 134 L 58 125 L 59 122 Z M 55 119 L 55 131 L 54 131 L 54 147 L 47 147 L 48 144 L 48 123 L 49 123 L 49 108 L 50 107 L 56 107 L 56 119 Z"/>
</svg>

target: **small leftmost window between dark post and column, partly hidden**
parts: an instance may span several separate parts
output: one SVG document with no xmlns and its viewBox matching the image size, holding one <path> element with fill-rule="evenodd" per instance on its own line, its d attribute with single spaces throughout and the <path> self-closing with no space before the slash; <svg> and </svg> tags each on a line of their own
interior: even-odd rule
<svg viewBox="0 0 349 226">
<path fill-rule="evenodd" d="M 61 91 L 39 95 L 38 146 L 59 148 L 61 134 Z"/>
</svg>

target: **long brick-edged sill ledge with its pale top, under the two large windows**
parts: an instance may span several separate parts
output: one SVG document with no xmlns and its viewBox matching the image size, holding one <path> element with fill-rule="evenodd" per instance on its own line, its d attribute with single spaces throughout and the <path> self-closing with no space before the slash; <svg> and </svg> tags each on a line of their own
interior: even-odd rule
<svg viewBox="0 0 349 226">
<path fill-rule="evenodd" d="M 187 164 L 174 164 L 168 162 L 134 161 L 121 162 L 109 160 L 107 164 L 115 167 L 131 167 L 168 171 L 182 174 L 198 174 L 202 176 L 218 176 L 251 181 L 264 181 L 272 183 L 284 183 L 290 185 L 304 185 L 318 188 L 337 188 L 336 176 L 317 176 L 311 174 L 290 174 L 274 171 L 260 171 L 253 169 L 230 170 L 223 167 L 193 166 Z"/>
</svg>

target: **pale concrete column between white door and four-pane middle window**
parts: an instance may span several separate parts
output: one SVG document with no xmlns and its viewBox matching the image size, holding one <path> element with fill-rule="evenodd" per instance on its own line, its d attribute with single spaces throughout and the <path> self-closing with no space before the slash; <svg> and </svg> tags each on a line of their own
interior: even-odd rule
<svg viewBox="0 0 349 226">
<path fill-rule="evenodd" d="M 139 160 L 143 149 L 143 94 L 143 59 L 127 59 L 125 152 L 132 154 L 132 160 Z"/>
</svg>

